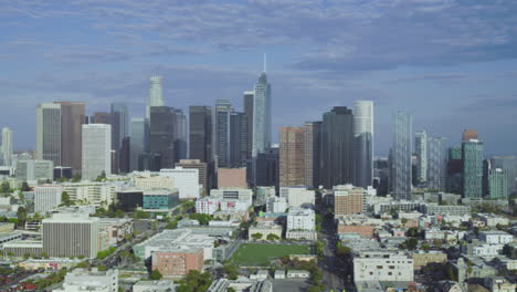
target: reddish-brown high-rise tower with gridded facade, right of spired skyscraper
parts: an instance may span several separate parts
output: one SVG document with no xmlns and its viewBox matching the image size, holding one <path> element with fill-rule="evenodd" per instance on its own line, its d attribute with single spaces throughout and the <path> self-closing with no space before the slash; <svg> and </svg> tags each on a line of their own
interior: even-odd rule
<svg viewBox="0 0 517 292">
<path fill-rule="evenodd" d="M 279 128 L 279 186 L 305 185 L 304 127 Z"/>
</svg>

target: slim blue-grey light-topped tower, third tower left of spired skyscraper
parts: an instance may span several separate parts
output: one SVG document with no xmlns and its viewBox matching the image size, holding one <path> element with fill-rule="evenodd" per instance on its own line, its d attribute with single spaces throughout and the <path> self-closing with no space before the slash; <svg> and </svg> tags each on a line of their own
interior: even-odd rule
<svg viewBox="0 0 517 292">
<path fill-rule="evenodd" d="M 230 166 L 230 114 L 233 112 L 230 100 L 215 101 L 215 155 L 218 167 Z"/>
</svg>

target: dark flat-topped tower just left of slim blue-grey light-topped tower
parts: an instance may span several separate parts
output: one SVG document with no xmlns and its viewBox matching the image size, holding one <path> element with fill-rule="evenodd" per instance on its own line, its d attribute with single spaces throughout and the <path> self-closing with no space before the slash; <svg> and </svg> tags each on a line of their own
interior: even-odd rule
<svg viewBox="0 0 517 292">
<path fill-rule="evenodd" d="M 210 106 L 190 106 L 189 157 L 202 163 L 211 163 L 212 154 L 212 108 Z"/>
</svg>

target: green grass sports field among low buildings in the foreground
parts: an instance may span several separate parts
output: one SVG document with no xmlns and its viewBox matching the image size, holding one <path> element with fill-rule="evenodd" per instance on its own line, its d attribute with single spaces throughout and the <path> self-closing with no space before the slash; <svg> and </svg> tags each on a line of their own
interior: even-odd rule
<svg viewBox="0 0 517 292">
<path fill-rule="evenodd" d="M 310 246 L 243 243 L 231 261 L 238 265 L 267 265 L 272 260 L 288 254 L 308 254 Z"/>
</svg>

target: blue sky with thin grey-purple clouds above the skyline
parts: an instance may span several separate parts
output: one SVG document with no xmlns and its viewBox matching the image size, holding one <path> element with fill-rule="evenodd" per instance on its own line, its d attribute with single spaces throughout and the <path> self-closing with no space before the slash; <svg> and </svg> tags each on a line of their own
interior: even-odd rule
<svg viewBox="0 0 517 292">
<path fill-rule="evenodd" d="M 0 0 L 0 126 L 34 148 L 38 103 L 126 102 L 145 115 L 149 76 L 166 105 L 242 108 L 267 54 L 273 131 L 374 102 L 386 155 L 393 113 L 486 155 L 517 154 L 515 0 Z"/>
</svg>

